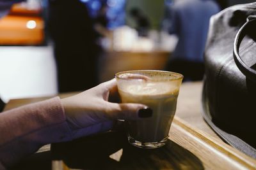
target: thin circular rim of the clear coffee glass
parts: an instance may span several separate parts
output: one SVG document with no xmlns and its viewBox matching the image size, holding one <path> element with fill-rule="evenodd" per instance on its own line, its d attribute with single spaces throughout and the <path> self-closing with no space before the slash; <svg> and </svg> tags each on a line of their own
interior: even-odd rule
<svg viewBox="0 0 256 170">
<path fill-rule="evenodd" d="M 121 80 L 127 80 L 128 78 L 125 78 L 125 77 L 120 77 L 121 74 L 124 74 L 124 73 L 164 73 L 164 74 L 172 74 L 172 75 L 175 75 L 175 76 L 172 76 L 172 78 L 170 78 L 169 80 L 180 80 L 182 79 L 184 76 L 180 73 L 175 73 L 175 72 L 172 72 L 172 71 L 163 71 L 163 70 L 150 70 L 150 69 L 138 69 L 138 70 L 130 70 L 130 71 L 121 71 L 121 72 L 118 72 L 115 74 L 115 78 L 116 79 L 121 79 Z M 166 78 L 163 78 L 163 79 L 157 79 L 158 81 L 159 80 L 166 80 Z"/>
</svg>

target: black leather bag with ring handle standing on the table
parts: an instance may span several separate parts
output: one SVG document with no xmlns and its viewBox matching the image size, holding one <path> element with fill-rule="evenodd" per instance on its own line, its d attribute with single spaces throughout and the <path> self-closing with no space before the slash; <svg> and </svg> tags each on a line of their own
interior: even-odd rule
<svg viewBox="0 0 256 170">
<path fill-rule="evenodd" d="M 256 158 L 256 3 L 211 18 L 202 112 L 228 144 Z"/>
</svg>

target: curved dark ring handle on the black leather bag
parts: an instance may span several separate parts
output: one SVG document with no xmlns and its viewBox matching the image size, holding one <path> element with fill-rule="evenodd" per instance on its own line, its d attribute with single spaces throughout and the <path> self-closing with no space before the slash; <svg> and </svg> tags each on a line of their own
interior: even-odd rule
<svg viewBox="0 0 256 170">
<path fill-rule="evenodd" d="M 250 80 L 256 81 L 256 71 L 251 67 L 247 66 L 239 55 L 239 46 L 241 45 L 241 41 L 243 40 L 244 36 L 248 34 L 248 31 L 256 31 L 256 27 L 252 27 L 252 25 L 256 25 L 256 16 L 251 15 L 247 18 L 246 23 L 239 29 L 236 34 L 236 38 L 234 41 L 233 46 L 233 57 L 236 62 L 237 67 L 239 70 Z M 255 54 L 256 55 L 256 54 Z"/>
</svg>

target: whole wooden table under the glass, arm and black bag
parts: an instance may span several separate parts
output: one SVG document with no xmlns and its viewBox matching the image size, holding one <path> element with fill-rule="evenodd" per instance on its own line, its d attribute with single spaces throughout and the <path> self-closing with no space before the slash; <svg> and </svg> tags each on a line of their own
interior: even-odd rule
<svg viewBox="0 0 256 170">
<path fill-rule="evenodd" d="M 53 144 L 46 160 L 52 169 L 256 169 L 255 159 L 221 141 L 204 122 L 201 92 L 202 82 L 182 84 L 170 138 L 162 148 L 135 148 L 127 144 L 125 133 L 120 130 Z M 42 99 L 45 98 L 11 100 L 6 110 Z M 49 152 L 48 148 L 42 148 L 34 157 Z M 24 161 L 17 169 L 28 167 L 31 160 L 35 159 Z M 37 169 L 38 164 L 40 161 L 35 165 Z"/>
</svg>

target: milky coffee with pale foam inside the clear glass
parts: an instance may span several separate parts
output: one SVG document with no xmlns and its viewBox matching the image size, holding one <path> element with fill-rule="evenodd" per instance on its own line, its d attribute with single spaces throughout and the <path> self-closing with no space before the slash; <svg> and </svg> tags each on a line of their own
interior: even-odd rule
<svg viewBox="0 0 256 170">
<path fill-rule="evenodd" d="M 143 143 L 159 142 L 168 136 L 175 115 L 179 87 L 166 82 L 145 80 L 139 84 L 127 83 L 118 89 L 122 103 L 141 103 L 153 110 L 150 118 L 125 120 L 127 133 Z"/>
</svg>

